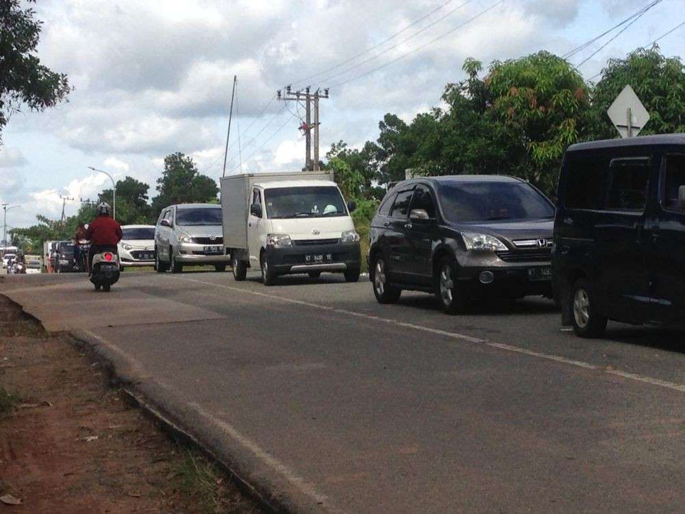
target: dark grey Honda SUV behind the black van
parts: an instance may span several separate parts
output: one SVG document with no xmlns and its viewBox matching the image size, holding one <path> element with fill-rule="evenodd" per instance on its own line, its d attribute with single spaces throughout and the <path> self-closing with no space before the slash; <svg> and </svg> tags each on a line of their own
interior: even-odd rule
<svg viewBox="0 0 685 514">
<path fill-rule="evenodd" d="M 487 295 L 551 297 L 554 206 L 517 178 L 458 175 L 398 182 L 371 221 L 378 302 L 435 293 L 446 313 Z"/>
</svg>

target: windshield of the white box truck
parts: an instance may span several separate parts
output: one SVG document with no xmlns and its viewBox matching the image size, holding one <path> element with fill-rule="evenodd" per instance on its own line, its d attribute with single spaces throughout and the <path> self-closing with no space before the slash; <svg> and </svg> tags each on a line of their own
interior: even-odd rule
<svg viewBox="0 0 685 514">
<path fill-rule="evenodd" d="M 265 189 L 264 201 L 270 219 L 347 216 L 343 197 L 334 186 Z"/>
</svg>

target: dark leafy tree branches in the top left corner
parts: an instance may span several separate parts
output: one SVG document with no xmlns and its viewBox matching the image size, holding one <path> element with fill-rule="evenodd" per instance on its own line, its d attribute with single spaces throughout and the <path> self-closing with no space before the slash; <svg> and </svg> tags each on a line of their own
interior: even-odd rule
<svg viewBox="0 0 685 514">
<path fill-rule="evenodd" d="M 66 75 L 51 71 L 36 57 L 42 22 L 23 4 L 0 2 L 0 134 L 22 106 L 42 111 L 60 103 L 71 90 Z"/>
</svg>

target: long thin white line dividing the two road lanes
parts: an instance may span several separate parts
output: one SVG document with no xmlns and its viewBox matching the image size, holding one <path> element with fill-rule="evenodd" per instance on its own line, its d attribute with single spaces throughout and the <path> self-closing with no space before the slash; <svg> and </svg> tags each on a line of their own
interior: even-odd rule
<svg viewBox="0 0 685 514">
<path fill-rule="evenodd" d="M 289 304 L 303 305 L 311 308 L 316 308 L 319 310 L 327 310 L 332 313 L 340 313 L 348 316 L 355 316 L 364 319 L 370 319 L 371 321 L 380 321 L 382 323 L 390 323 L 392 325 L 400 326 L 403 328 L 412 328 L 413 330 L 421 330 L 422 332 L 429 332 L 431 334 L 438 334 L 440 336 L 449 337 L 450 339 L 458 339 L 460 341 L 468 341 L 469 343 L 478 343 L 491 348 L 497 348 L 497 350 L 505 350 L 506 352 L 515 352 L 518 354 L 524 354 L 531 357 L 543 358 L 545 360 L 553 360 L 557 363 L 567 364 L 575 367 L 581 367 L 583 369 L 589 369 L 591 371 L 599 371 L 603 374 L 619 376 L 621 378 L 626 378 L 628 380 L 634 380 L 636 382 L 643 382 L 645 384 L 651 384 L 653 386 L 664 387 L 666 389 L 671 389 L 673 391 L 678 391 L 680 393 L 685 393 L 685 384 L 677 384 L 675 382 L 669 382 L 669 380 L 661 380 L 659 378 L 652 378 L 649 376 L 639 375 L 636 373 L 629 373 L 627 371 L 621 371 L 619 369 L 605 369 L 603 366 L 586 363 L 582 360 L 574 360 L 571 358 L 562 357 L 560 355 L 545 354 L 543 352 L 536 352 L 534 350 L 528 350 L 527 348 L 522 348 L 519 346 L 507 345 L 504 343 L 495 343 L 493 341 L 488 341 L 487 339 L 479 339 L 478 337 L 469 336 L 466 334 L 459 334 L 458 332 L 449 332 L 448 330 L 439 330 L 437 328 L 430 328 L 423 325 L 416 325 L 414 323 L 404 323 L 403 321 L 397 321 L 395 319 L 382 318 L 379 316 L 373 316 L 364 313 L 356 313 L 353 310 L 340 309 L 335 307 L 330 307 L 321 304 L 313 304 L 312 302 L 305 302 L 303 300 L 287 298 L 277 295 L 269 295 L 267 293 L 260 293 L 258 291 L 250 291 L 249 289 L 242 289 L 240 287 L 227 286 L 225 284 L 214 284 L 212 282 L 205 282 L 203 280 L 197 280 L 194 278 L 185 278 L 175 276 L 177 280 L 186 280 L 188 282 L 197 282 L 198 284 L 204 284 L 207 286 L 214 286 L 223 289 L 229 289 L 230 291 L 236 291 L 238 293 L 246 293 L 249 295 L 277 299 L 282 302 Z"/>
</svg>

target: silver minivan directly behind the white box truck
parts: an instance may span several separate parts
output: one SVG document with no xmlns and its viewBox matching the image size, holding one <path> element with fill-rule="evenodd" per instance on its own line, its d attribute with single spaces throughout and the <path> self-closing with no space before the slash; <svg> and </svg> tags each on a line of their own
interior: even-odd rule
<svg viewBox="0 0 685 514">
<path fill-rule="evenodd" d="M 182 273 L 184 265 L 213 265 L 225 271 L 221 206 L 179 204 L 162 209 L 155 225 L 155 269 Z"/>
</svg>

